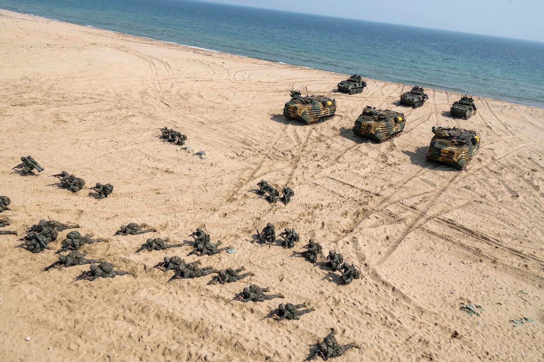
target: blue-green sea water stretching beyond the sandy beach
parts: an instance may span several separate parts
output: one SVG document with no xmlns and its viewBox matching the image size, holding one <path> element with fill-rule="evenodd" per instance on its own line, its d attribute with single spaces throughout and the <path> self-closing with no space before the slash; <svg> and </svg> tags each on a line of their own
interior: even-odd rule
<svg viewBox="0 0 544 362">
<path fill-rule="evenodd" d="M 544 108 L 544 42 L 187 0 L 0 0 L 0 8 Z"/>
</svg>

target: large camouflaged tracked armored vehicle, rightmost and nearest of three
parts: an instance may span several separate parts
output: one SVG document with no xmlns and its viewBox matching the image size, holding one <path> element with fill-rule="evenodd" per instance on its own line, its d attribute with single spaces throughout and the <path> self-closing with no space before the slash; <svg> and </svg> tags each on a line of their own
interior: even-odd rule
<svg viewBox="0 0 544 362">
<path fill-rule="evenodd" d="M 459 127 L 432 127 L 435 136 L 431 140 L 426 159 L 462 170 L 480 147 L 480 136 L 473 130 Z"/>
</svg>

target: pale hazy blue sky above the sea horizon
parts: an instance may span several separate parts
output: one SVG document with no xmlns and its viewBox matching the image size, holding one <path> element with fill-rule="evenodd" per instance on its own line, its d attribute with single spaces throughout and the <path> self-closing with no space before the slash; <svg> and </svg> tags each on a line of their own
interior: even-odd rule
<svg viewBox="0 0 544 362">
<path fill-rule="evenodd" d="M 544 41 L 544 0 L 201 1 Z"/>
</svg>

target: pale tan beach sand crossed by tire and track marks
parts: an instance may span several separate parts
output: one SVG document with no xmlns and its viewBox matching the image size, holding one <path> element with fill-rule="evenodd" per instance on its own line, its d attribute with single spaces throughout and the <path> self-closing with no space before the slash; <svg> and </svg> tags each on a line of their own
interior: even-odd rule
<svg viewBox="0 0 544 362">
<path fill-rule="evenodd" d="M 88 265 L 40 272 L 69 230 L 40 254 L 0 236 L 2 359 L 301 361 L 336 327 L 340 344 L 362 345 L 339 361 L 544 360 L 544 110 L 476 97 L 477 115 L 452 119 L 459 94 L 428 90 L 411 109 L 398 107 L 399 84 L 368 80 L 349 96 L 335 91 L 345 78 L 0 10 L 2 216 L 20 232 L 47 217 L 77 222 L 109 238 L 88 257 L 135 275 L 71 283 Z M 293 89 L 335 97 L 336 116 L 287 120 Z M 355 136 L 367 104 L 403 111 L 404 133 Z M 207 159 L 162 142 L 164 126 Z M 465 170 L 426 163 L 432 126 L 481 134 Z M 10 171 L 28 154 L 44 172 Z M 61 170 L 114 192 L 72 194 L 50 177 Z M 269 204 L 255 193 L 261 179 L 292 186 L 293 201 Z M 132 221 L 158 232 L 112 236 Z M 295 227 L 300 244 L 251 244 L 267 222 Z M 190 246 L 134 254 L 148 237 L 189 241 L 203 226 L 237 252 L 202 265 L 255 276 L 166 284 L 172 272 L 150 268 Z M 338 285 L 338 273 L 294 255 L 311 237 L 361 279 Z M 316 311 L 259 321 L 282 299 L 227 303 L 250 283 Z M 485 310 L 469 316 L 461 303 Z M 520 317 L 536 323 L 515 328 Z"/>
</svg>

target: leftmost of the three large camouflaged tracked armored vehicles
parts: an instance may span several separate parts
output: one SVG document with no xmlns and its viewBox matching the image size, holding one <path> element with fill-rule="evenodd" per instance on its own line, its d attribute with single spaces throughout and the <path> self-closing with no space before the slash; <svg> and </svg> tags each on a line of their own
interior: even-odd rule
<svg viewBox="0 0 544 362">
<path fill-rule="evenodd" d="M 325 96 L 301 97 L 300 91 L 291 91 L 291 100 L 285 104 L 283 115 L 305 124 L 320 123 L 332 118 L 336 101 Z"/>
</svg>

